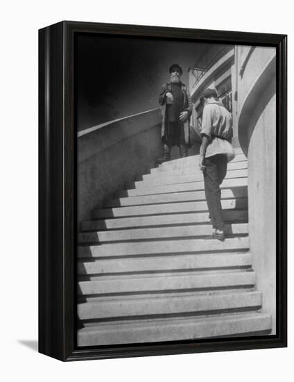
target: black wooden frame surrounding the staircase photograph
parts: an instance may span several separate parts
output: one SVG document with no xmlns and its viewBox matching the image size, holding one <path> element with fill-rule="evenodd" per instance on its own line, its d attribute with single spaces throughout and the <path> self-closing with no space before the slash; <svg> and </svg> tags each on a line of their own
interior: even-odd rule
<svg viewBox="0 0 294 382">
<path fill-rule="evenodd" d="M 277 49 L 277 334 L 246 338 L 76 347 L 76 33 L 223 42 Z M 62 361 L 286 347 L 286 35 L 59 22 L 39 31 L 39 351 Z"/>
</svg>

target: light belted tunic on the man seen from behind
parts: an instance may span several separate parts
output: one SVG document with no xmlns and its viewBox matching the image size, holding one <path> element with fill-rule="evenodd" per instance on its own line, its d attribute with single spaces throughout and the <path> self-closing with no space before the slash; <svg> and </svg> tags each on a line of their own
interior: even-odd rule
<svg viewBox="0 0 294 382">
<path fill-rule="evenodd" d="M 206 149 L 205 158 L 216 154 L 226 154 L 227 161 L 234 159 L 235 153 L 232 144 L 232 116 L 223 103 L 218 101 L 207 103 L 203 109 L 202 126 L 200 136 L 206 135 L 209 144 Z M 217 138 L 214 135 L 218 135 Z"/>
</svg>

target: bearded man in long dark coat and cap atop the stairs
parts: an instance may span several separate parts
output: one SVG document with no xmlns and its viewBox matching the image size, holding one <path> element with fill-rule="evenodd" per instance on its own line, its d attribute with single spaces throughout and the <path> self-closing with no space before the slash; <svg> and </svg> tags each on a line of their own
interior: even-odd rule
<svg viewBox="0 0 294 382">
<path fill-rule="evenodd" d="M 190 115 L 192 103 L 189 90 L 181 81 L 182 68 L 173 64 L 169 68 L 171 81 L 164 83 L 159 94 L 159 104 L 164 106 L 162 113 L 162 142 L 164 154 L 157 162 L 163 163 L 171 158 L 171 147 L 178 146 L 180 157 L 188 156 L 190 140 Z"/>
</svg>

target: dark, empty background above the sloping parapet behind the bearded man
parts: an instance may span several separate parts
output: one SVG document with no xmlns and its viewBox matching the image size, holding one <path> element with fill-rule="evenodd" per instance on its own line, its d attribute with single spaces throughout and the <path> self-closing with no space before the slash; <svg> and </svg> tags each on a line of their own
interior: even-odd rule
<svg viewBox="0 0 294 382">
<path fill-rule="evenodd" d="M 213 44 L 209 44 L 211 47 Z M 80 35 L 76 41 L 78 130 L 157 108 L 168 67 L 178 63 L 188 85 L 188 68 L 207 44 Z"/>
</svg>

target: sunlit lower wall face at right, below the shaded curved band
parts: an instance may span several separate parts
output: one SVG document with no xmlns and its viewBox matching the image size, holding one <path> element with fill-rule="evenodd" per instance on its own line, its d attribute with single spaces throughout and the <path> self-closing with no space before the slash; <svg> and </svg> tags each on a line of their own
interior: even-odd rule
<svg viewBox="0 0 294 382">
<path fill-rule="evenodd" d="M 275 88 L 274 79 L 269 84 Z M 266 93 L 270 92 L 267 90 Z M 261 101 L 262 102 L 262 101 Z M 257 104 L 260 108 L 261 102 Z M 275 192 L 275 94 L 257 121 L 250 121 L 253 133 L 248 150 L 248 209 L 252 267 L 257 272 L 257 288 L 263 292 L 262 308 L 276 325 L 276 192 Z M 263 105 L 262 105 L 263 106 Z M 252 118 L 254 119 L 254 117 Z M 261 176 L 262 174 L 262 176 Z M 263 223 L 261 223 L 263 222 Z"/>
</svg>

